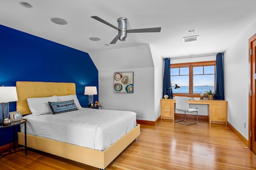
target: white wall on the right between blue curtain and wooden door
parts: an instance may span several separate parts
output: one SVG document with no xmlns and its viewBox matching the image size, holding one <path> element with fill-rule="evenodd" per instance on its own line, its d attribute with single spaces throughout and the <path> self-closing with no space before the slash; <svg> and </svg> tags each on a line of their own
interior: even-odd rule
<svg viewBox="0 0 256 170">
<path fill-rule="evenodd" d="M 249 41 L 256 33 L 256 21 L 230 45 L 224 54 L 225 100 L 228 122 L 248 140 L 249 125 Z M 244 128 L 246 122 L 246 128 Z"/>
</svg>

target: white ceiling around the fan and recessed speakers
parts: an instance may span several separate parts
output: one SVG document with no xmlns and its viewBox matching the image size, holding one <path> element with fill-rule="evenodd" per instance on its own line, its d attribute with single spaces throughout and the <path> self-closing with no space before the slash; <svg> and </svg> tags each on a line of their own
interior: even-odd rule
<svg viewBox="0 0 256 170">
<path fill-rule="evenodd" d="M 161 57 L 183 57 L 224 52 L 256 19 L 256 0 L 0 0 L 0 24 L 84 52 L 150 44 Z M 128 33 L 126 41 L 109 44 L 118 34 L 90 16 L 127 29 L 162 27 L 160 33 Z M 68 21 L 57 25 L 50 18 Z M 196 29 L 188 33 L 189 29 Z M 256 31 L 255 31 L 256 32 Z M 183 43 L 182 37 L 199 35 Z M 91 41 L 99 37 L 101 41 Z"/>
</svg>

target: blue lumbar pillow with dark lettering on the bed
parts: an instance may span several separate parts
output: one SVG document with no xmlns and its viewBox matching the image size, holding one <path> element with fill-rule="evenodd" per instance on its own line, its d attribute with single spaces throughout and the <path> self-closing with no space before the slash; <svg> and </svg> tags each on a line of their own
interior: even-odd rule
<svg viewBox="0 0 256 170">
<path fill-rule="evenodd" d="M 78 110 L 74 100 L 65 101 L 65 102 L 48 102 L 48 104 L 52 108 L 53 114 Z"/>
</svg>

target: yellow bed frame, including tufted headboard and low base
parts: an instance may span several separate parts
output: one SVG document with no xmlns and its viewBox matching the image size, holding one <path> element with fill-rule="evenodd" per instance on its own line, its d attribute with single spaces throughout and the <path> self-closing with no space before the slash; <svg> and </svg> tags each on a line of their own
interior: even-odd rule
<svg viewBox="0 0 256 170">
<path fill-rule="evenodd" d="M 74 83 L 19 81 L 16 82 L 16 88 L 18 94 L 17 111 L 21 111 L 22 115 L 31 113 L 26 101 L 27 98 L 76 94 Z M 100 151 L 27 134 L 27 147 L 105 169 L 139 135 L 140 125 L 137 125 L 110 147 Z M 24 133 L 18 132 L 18 144 L 25 145 Z"/>
</svg>

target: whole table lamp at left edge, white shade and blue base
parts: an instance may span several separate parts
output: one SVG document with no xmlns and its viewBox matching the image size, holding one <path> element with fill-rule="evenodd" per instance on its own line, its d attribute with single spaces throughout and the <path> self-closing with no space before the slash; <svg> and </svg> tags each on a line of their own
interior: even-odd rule
<svg viewBox="0 0 256 170">
<path fill-rule="evenodd" d="M 0 123 L 9 118 L 9 102 L 18 101 L 16 87 L 0 87 Z"/>
</svg>

